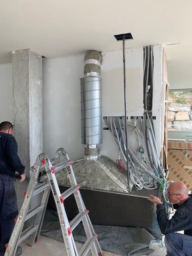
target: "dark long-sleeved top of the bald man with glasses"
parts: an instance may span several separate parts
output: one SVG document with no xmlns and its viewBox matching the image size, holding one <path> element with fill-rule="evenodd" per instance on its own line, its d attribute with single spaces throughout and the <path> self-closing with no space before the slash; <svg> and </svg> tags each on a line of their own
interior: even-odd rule
<svg viewBox="0 0 192 256">
<path fill-rule="evenodd" d="M 162 204 L 157 205 L 157 220 L 162 234 L 184 230 L 184 234 L 192 236 L 192 196 L 182 205 L 175 205 L 177 210 L 170 220 Z"/>
</svg>

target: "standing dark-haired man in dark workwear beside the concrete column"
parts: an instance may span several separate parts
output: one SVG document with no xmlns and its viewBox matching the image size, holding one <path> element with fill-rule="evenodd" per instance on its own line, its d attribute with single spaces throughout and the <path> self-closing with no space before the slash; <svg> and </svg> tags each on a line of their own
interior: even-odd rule
<svg viewBox="0 0 192 256">
<path fill-rule="evenodd" d="M 15 172 L 20 174 L 20 181 L 25 180 L 24 169 L 18 157 L 17 142 L 12 135 L 14 126 L 10 122 L 0 123 L 0 256 L 4 256 L 14 228 L 14 219 L 18 214 L 17 198 L 13 183 Z M 16 256 L 22 254 L 18 247 Z"/>
</svg>

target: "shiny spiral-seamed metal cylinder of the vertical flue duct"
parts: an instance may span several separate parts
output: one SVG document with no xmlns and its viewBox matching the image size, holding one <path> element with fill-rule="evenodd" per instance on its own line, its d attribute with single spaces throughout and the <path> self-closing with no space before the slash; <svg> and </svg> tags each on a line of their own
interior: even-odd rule
<svg viewBox="0 0 192 256">
<path fill-rule="evenodd" d="M 81 143 L 102 143 L 102 79 L 84 77 L 81 82 Z"/>
</svg>

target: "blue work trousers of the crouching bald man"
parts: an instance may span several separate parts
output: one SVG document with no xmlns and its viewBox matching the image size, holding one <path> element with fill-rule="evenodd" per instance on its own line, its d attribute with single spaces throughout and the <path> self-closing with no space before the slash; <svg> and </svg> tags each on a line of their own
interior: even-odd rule
<svg viewBox="0 0 192 256">
<path fill-rule="evenodd" d="M 192 256 L 192 236 L 180 233 L 166 234 L 165 246 L 167 256 Z"/>
</svg>

